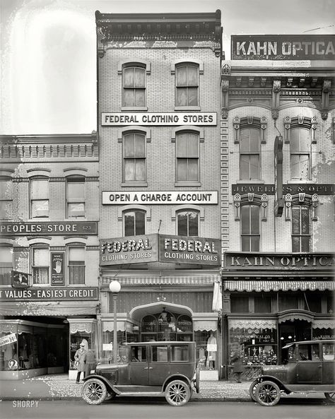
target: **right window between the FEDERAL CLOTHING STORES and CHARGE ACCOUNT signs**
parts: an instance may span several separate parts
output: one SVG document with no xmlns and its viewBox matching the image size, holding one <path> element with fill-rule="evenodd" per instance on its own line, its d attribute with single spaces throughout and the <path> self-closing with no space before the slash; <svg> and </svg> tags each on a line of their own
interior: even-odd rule
<svg viewBox="0 0 335 419">
<path fill-rule="evenodd" d="M 177 182 L 199 181 L 199 135 L 177 134 Z"/>
</svg>

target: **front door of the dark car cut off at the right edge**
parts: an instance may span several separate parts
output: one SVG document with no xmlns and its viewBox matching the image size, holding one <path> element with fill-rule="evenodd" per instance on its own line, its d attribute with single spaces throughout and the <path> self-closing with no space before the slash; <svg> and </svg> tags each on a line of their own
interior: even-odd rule
<svg viewBox="0 0 335 419">
<path fill-rule="evenodd" d="M 297 383 L 320 384 L 322 382 L 322 360 L 319 343 L 298 345 Z"/>
</svg>

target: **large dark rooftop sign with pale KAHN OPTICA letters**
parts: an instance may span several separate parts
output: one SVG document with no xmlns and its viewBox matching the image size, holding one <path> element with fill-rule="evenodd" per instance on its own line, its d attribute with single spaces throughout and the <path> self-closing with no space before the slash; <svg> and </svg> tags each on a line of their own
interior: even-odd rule
<svg viewBox="0 0 335 419">
<path fill-rule="evenodd" d="M 232 35 L 232 59 L 335 59 L 335 35 Z"/>
</svg>

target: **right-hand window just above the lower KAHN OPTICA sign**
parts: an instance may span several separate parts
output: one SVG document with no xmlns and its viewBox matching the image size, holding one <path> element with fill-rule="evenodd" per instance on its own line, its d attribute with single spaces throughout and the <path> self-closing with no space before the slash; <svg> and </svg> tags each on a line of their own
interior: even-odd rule
<svg viewBox="0 0 335 419">
<path fill-rule="evenodd" d="M 292 206 L 292 252 L 310 252 L 309 206 Z"/>
</svg>

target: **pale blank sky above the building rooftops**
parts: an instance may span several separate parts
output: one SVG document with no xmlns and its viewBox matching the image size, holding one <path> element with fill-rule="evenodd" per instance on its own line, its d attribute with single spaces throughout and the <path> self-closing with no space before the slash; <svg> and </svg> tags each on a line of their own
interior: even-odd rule
<svg viewBox="0 0 335 419">
<path fill-rule="evenodd" d="M 218 8 L 226 59 L 234 34 L 335 33 L 335 0 L 0 0 L 0 134 L 96 129 L 96 10 L 187 13 Z"/>
</svg>

